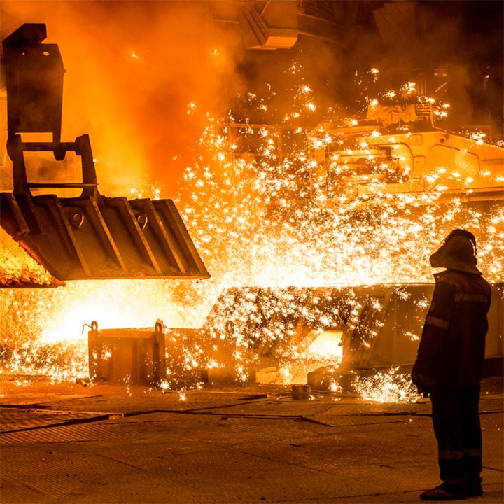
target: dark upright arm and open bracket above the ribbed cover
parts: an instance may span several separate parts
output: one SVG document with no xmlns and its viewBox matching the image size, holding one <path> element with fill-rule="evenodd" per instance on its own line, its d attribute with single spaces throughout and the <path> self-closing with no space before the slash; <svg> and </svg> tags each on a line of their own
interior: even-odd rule
<svg viewBox="0 0 504 504">
<path fill-rule="evenodd" d="M 25 23 L 3 40 L 7 87 L 7 153 L 13 161 L 14 194 L 30 188 L 83 188 L 83 196 L 97 194 L 97 176 L 87 134 L 62 142 L 63 60 L 56 44 L 43 44 L 42 23 Z M 52 142 L 23 142 L 22 133 L 50 133 Z M 82 158 L 82 183 L 31 183 L 24 153 L 52 152 L 57 161 L 73 151 Z"/>
</svg>

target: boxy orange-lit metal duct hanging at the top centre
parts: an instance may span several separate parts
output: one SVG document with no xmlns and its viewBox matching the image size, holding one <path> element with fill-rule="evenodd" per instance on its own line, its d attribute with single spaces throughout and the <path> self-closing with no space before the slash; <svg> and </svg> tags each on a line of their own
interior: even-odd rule
<svg viewBox="0 0 504 504">
<path fill-rule="evenodd" d="M 297 41 L 297 1 L 251 1 L 238 11 L 248 49 L 290 49 Z"/>
</svg>

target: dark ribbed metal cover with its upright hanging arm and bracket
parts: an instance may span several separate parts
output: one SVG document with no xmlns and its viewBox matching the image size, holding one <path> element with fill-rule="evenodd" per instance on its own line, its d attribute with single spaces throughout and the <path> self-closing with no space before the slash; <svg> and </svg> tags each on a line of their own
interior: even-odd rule
<svg viewBox="0 0 504 504">
<path fill-rule="evenodd" d="M 87 134 L 61 141 L 64 68 L 59 48 L 43 44 L 43 24 L 25 24 L 3 41 L 7 88 L 7 153 L 13 192 L 1 193 L 1 227 L 60 281 L 122 278 L 209 278 L 172 200 L 104 197 Z M 52 141 L 23 141 L 23 134 Z M 78 181 L 29 181 L 25 153 L 80 157 Z M 32 194 L 81 189 L 78 197 Z"/>
</svg>

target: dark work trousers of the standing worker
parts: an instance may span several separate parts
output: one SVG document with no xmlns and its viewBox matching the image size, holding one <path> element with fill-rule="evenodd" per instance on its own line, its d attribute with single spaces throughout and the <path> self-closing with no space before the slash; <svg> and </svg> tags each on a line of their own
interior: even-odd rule
<svg viewBox="0 0 504 504">
<path fill-rule="evenodd" d="M 479 386 L 438 388 L 430 400 L 442 486 L 458 493 L 481 489 Z"/>
</svg>

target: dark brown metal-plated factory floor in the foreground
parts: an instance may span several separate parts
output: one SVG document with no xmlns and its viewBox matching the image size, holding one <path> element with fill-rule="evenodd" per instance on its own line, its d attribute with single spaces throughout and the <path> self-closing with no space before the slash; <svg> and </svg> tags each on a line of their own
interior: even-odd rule
<svg viewBox="0 0 504 504">
<path fill-rule="evenodd" d="M 484 391 L 484 495 L 504 501 L 502 378 Z M 290 387 L 0 379 L 1 504 L 416 503 L 438 484 L 430 402 Z M 497 393 L 495 393 L 497 391 Z"/>
</svg>

